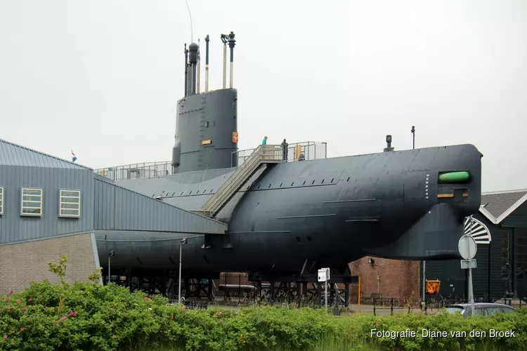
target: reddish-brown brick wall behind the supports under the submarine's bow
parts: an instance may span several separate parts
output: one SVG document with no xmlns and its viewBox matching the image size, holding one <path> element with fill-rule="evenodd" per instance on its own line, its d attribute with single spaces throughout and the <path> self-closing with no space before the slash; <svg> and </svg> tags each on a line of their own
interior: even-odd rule
<svg viewBox="0 0 527 351">
<path fill-rule="evenodd" d="M 363 298 L 370 298 L 377 293 L 377 276 L 379 276 L 379 293 L 386 298 L 419 298 L 419 261 L 387 260 L 368 258 L 349 264 L 351 274 L 360 275 L 360 291 Z M 357 296 L 357 286 L 352 286 L 351 296 Z M 365 301 L 366 302 L 366 301 Z"/>
</svg>

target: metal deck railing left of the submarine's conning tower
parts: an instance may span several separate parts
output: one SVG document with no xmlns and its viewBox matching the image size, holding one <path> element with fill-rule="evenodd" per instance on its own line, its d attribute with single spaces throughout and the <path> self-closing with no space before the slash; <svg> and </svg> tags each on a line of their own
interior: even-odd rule
<svg viewBox="0 0 527 351">
<path fill-rule="evenodd" d="M 94 172 L 114 181 L 155 178 L 172 174 L 172 165 L 171 161 L 143 162 L 142 164 L 127 164 L 126 166 L 100 168 L 94 170 Z"/>
</svg>

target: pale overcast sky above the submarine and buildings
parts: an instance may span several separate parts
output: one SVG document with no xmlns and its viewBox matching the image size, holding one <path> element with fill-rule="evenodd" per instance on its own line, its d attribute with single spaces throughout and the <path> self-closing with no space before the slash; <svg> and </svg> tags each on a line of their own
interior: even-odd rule
<svg viewBox="0 0 527 351">
<path fill-rule="evenodd" d="M 188 4 L 193 34 L 185 0 L 0 0 L 0 138 L 93 168 L 169 161 L 183 44 L 210 35 L 221 88 L 233 31 L 240 150 L 404 150 L 415 125 L 416 147 L 476 145 L 484 191 L 527 188 L 527 1 Z"/>
</svg>

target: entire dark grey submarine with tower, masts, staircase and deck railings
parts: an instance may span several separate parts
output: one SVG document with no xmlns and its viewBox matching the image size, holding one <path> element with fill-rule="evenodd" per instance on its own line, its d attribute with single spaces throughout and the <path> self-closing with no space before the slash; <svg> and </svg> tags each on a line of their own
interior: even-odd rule
<svg viewBox="0 0 527 351">
<path fill-rule="evenodd" d="M 185 44 L 185 93 L 177 101 L 169 167 L 150 174 L 145 166 L 119 177 L 117 168 L 107 171 L 119 186 L 219 220 L 227 230 L 183 233 L 181 240 L 164 233 L 97 237 L 103 267 L 112 252 L 119 253 L 112 269 L 126 270 L 177 270 L 181 252 L 181 269 L 192 277 L 344 270 L 364 256 L 460 258 L 464 219 L 481 204 L 483 155 L 474 145 L 399 151 L 388 136 L 382 152 L 346 157 L 327 157 L 327 144 L 315 142 L 241 152 L 235 34 L 221 34 L 223 87 L 211 91 L 209 40 L 207 35 L 204 91 L 200 46 Z"/>
</svg>

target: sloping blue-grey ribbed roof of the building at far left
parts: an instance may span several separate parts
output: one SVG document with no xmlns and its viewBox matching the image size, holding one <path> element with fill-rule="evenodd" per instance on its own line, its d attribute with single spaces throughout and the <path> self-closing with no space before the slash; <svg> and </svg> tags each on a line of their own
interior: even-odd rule
<svg viewBox="0 0 527 351">
<path fill-rule="evenodd" d="M 7 166 L 33 166 L 44 168 L 91 168 L 59 159 L 44 152 L 31 150 L 27 147 L 0 139 L 0 164 Z"/>
</svg>

